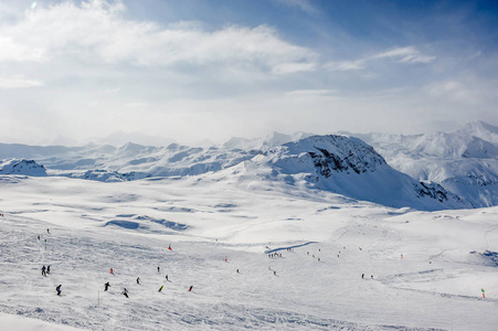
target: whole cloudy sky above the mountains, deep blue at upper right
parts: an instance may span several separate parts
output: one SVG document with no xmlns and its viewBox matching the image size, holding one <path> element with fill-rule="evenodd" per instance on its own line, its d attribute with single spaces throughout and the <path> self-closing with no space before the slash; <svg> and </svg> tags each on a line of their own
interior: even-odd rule
<svg viewBox="0 0 498 331">
<path fill-rule="evenodd" d="M 497 1 L 0 0 L 0 142 L 498 125 Z"/>
</svg>

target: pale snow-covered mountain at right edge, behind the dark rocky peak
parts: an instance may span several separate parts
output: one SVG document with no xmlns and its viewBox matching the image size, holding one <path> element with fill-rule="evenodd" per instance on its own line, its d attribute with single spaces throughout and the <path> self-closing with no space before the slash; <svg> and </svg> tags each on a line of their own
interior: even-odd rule
<svg viewBox="0 0 498 331">
<path fill-rule="evenodd" d="M 349 135 L 414 179 L 439 183 L 476 207 L 498 205 L 497 127 L 477 121 L 449 134 Z"/>
</svg>

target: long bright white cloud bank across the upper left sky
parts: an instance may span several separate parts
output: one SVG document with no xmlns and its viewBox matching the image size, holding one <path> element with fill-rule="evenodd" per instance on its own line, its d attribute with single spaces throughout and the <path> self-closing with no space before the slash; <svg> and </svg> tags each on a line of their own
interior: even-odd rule
<svg viewBox="0 0 498 331">
<path fill-rule="evenodd" d="M 86 63 L 136 66 L 219 64 L 274 74 L 312 71 L 317 54 L 282 40 L 266 25 L 229 25 L 208 31 L 199 24 L 161 26 L 123 17 L 121 2 L 63 2 L 27 11 L 0 28 L 1 61 L 42 62 L 75 57 Z"/>
</svg>

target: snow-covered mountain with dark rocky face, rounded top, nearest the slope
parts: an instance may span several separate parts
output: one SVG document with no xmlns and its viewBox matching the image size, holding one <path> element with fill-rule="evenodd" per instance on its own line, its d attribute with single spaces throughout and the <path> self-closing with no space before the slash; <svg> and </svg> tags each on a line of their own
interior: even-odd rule
<svg viewBox="0 0 498 331">
<path fill-rule="evenodd" d="M 314 189 L 393 207 L 471 207 L 436 183 L 417 182 L 392 169 L 371 146 L 353 137 L 312 136 L 245 163 L 265 180 L 279 179 L 292 185 L 306 181 Z"/>
</svg>

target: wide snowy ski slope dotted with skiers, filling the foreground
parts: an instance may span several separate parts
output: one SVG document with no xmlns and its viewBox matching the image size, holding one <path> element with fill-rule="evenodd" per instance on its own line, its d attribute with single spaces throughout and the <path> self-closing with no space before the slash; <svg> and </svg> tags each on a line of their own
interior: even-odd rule
<svg viewBox="0 0 498 331">
<path fill-rule="evenodd" d="M 13 330 L 498 324 L 497 207 L 389 209 L 223 173 L 118 183 L 3 175 L 0 192 L 0 324 Z"/>
</svg>

